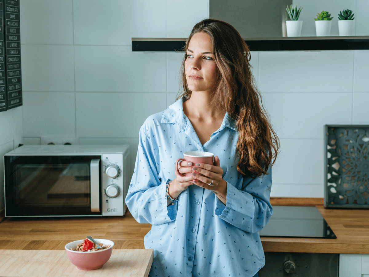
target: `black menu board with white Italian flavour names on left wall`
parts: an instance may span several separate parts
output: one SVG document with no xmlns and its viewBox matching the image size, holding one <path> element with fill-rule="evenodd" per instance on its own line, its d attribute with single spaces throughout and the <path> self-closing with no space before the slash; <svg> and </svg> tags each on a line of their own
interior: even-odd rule
<svg viewBox="0 0 369 277">
<path fill-rule="evenodd" d="M 19 0 L 0 0 L 0 111 L 22 105 Z M 1 48 L 2 47 L 2 48 Z M 4 88 L 3 88 L 4 86 Z"/>
</svg>

